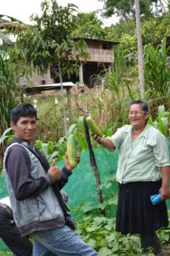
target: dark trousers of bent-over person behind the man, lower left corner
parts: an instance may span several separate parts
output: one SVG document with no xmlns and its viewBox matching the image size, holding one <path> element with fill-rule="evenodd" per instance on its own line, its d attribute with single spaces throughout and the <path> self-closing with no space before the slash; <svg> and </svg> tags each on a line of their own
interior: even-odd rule
<svg viewBox="0 0 170 256">
<path fill-rule="evenodd" d="M 0 207 L 0 237 L 17 256 L 31 256 L 32 244 L 27 237 L 20 236 L 13 218 L 7 210 Z"/>
</svg>

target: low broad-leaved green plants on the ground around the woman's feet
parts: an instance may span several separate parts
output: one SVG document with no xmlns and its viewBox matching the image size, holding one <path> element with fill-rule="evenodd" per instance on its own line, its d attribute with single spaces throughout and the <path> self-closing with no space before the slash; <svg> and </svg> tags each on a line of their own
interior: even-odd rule
<svg viewBox="0 0 170 256">
<path fill-rule="evenodd" d="M 170 212 L 168 212 L 168 215 L 170 215 Z M 115 226 L 115 218 L 88 216 L 77 222 L 77 232 L 98 251 L 99 256 L 141 255 L 139 236 L 123 236 L 116 232 Z M 166 247 L 170 241 L 170 227 L 159 230 L 157 235 Z M 150 250 L 150 253 L 146 255 L 152 256 L 154 254 Z"/>
</svg>

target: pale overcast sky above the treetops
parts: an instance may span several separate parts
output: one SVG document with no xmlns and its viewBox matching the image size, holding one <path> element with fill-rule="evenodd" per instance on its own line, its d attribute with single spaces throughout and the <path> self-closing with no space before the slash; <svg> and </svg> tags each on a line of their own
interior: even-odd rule
<svg viewBox="0 0 170 256">
<path fill-rule="evenodd" d="M 19 20 L 30 23 L 32 14 L 41 14 L 42 0 L 0 0 L 0 14 L 9 15 Z M 97 9 L 102 9 L 103 3 L 98 0 L 57 0 L 59 5 L 74 3 L 82 13 L 89 13 Z M 116 19 L 105 20 L 105 25 L 115 23 Z"/>
</svg>

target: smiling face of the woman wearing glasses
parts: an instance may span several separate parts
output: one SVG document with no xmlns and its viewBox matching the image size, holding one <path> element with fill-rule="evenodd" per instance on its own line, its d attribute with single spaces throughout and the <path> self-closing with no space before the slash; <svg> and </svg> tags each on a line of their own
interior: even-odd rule
<svg viewBox="0 0 170 256">
<path fill-rule="evenodd" d="M 144 128 L 146 125 L 146 119 L 148 119 L 149 113 L 142 109 L 141 104 L 133 104 L 130 107 L 128 118 L 133 128 Z"/>
</svg>

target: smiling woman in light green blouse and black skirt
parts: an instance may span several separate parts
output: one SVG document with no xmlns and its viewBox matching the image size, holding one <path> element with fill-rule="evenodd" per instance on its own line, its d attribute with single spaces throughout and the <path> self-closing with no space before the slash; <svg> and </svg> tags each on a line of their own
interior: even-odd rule
<svg viewBox="0 0 170 256">
<path fill-rule="evenodd" d="M 155 255 L 163 255 L 156 230 L 167 227 L 170 160 L 167 139 L 148 125 L 149 108 L 146 102 L 131 103 L 129 121 L 111 137 L 94 136 L 105 148 L 119 151 L 116 178 L 119 183 L 116 212 L 116 231 L 139 234 L 143 253 L 148 247 Z M 161 203 L 153 205 L 150 195 L 161 194 Z"/>
</svg>

